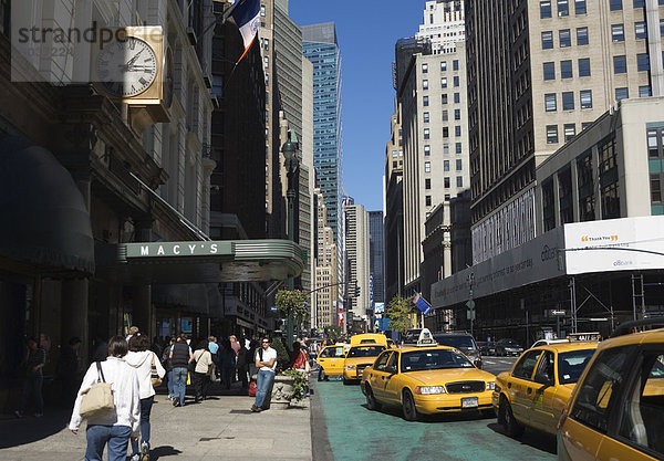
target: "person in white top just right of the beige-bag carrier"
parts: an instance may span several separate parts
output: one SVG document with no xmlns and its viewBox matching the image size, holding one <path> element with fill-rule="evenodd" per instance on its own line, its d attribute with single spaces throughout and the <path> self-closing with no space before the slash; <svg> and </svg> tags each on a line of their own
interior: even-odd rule
<svg viewBox="0 0 664 461">
<path fill-rule="evenodd" d="M 149 415 L 155 402 L 155 388 L 152 385 L 152 368 L 157 370 L 163 378 L 166 370 L 162 366 L 157 355 L 151 350 L 149 339 L 146 335 L 132 336 L 129 339 L 129 352 L 125 362 L 136 368 L 138 376 L 138 391 L 141 396 L 141 449 L 138 440 L 132 440 L 132 461 L 147 461 L 149 457 L 151 425 Z"/>
</svg>

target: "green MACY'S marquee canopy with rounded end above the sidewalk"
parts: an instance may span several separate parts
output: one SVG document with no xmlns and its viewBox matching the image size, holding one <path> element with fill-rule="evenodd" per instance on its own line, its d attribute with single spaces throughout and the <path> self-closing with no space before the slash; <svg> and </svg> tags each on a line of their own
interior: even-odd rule
<svg viewBox="0 0 664 461">
<path fill-rule="evenodd" d="M 106 244 L 97 274 L 127 284 L 262 282 L 299 276 L 300 245 L 290 240 L 216 240 Z"/>
</svg>

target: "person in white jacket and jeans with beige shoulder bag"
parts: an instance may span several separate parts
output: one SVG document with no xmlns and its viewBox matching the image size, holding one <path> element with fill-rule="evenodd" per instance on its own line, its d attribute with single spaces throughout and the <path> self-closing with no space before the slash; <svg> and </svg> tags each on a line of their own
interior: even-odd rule
<svg viewBox="0 0 664 461">
<path fill-rule="evenodd" d="M 113 411 L 87 419 L 85 461 L 102 461 L 106 444 L 108 461 L 125 461 L 129 438 L 138 440 L 141 421 L 138 376 L 136 369 L 124 360 L 126 354 L 127 342 L 124 337 L 114 336 L 108 339 L 108 358 L 100 362 L 98 366 L 103 380 L 111 384 L 115 408 Z M 97 363 L 94 363 L 90 365 L 83 377 L 72 411 L 69 428 L 74 434 L 79 433 L 83 420 L 80 413 L 83 394 L 87 392 L 98 378 Z"/>
</svg>

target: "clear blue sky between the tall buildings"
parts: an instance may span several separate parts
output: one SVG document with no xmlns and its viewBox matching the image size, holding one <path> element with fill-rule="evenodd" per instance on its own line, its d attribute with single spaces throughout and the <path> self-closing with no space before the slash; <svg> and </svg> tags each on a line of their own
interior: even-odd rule
<svg viewBox="0 0 664 461">
<path fill-rule="evenodd" d="M 299 25 L 335 23 L 342 59 L 343 185 L 355 203 L 382 210 L 394 45 L 417 32 L 424 0 L 290 0 L 289 9 Z"/>
</svg>

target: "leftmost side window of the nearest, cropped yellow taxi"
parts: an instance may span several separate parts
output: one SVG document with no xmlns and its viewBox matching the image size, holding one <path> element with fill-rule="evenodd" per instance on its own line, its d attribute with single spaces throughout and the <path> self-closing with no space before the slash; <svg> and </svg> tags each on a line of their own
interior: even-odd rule
<svg viewBox="0 0 664 461">
<path fill-rule="evenodd" d="M 613 347 L 599 354 L 588 370 L 570 417 L 602 433 L 609 428 L 610 409 L 615 405 L 630 370 L 633 347 Z"/>
</svg>

